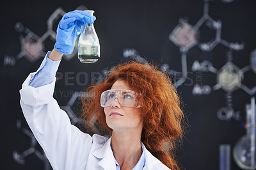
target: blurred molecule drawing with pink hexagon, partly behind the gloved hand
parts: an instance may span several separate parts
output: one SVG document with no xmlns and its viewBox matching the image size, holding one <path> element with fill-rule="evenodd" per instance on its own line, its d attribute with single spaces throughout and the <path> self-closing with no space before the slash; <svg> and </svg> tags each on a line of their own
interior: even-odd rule
<svg viewBox="0 0 256 170">
<path fill-rule="evenodd" d="M 86 10 L 85 6 L 77 7 L 77 10 Z M 47 20 L 47 31 L 42 36 L 38 36 L 33 31 L 25 27 L 22 22 L 17 22 L 15 24 L 15 30 L 20 33 L 20 43 L 21 49 L 20 53 L 17 56 L 10 56 L 8 54 L 4 55 L 4 66 L 15 66 L 17 60 L 20 58 L 26 58 L 31 63 L 35 62 L 37 59 L 42 58 L 45 56 L 46 52 L 44 49 L 45 42 L 56 42 L 56 25 L 59 20 L 63 17 L 66 12 L 63 11 L 61 8 L 56 9 L 52 15 Z M 77 42 L 75 44 L 75 49 L 72 54 L 65 54 L 63 58 L 67 61 L 72 59 L 77 54 Z"/>
</svg>

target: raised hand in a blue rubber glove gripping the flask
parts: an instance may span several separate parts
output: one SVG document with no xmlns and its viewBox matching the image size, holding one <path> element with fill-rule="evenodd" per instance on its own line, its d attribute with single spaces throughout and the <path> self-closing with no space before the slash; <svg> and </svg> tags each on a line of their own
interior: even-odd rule
<svg viewBox="0 0 256 170">
<path fill-rule="evenodd" d="M 71 54 L 76 38 L 81 33 L 84 22 L 92 24 L 96 17 L 87 12 L 75 10 L 63 15 L 59 22 L 54 48 L 63 54 Z"/>
</svg>

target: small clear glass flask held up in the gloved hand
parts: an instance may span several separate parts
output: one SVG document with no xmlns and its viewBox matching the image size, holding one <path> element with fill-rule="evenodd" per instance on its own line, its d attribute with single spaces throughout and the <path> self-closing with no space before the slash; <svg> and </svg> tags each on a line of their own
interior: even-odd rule
<svg viewBox="0 0 256 170">
<path fill-rule="evenodd" d="M 85 10 L 93 15 L 93 10 Z M 95 63 L 100 58 L 100 43 L 93 24 L 84 24 L 78 40 L 78 58 L 81 63 Z"/>
</svg>

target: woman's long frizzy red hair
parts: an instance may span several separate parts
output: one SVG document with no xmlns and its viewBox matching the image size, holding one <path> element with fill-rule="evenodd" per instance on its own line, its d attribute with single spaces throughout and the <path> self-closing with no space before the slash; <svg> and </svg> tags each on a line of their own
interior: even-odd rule
<svg viewBox="0 0 256 170">
<path fill-rule="evenodd" d="M 91 98 L 83 100 L 83 118 L 99 123 L 109 130 L 104 108 L 100 107 L 100 94 L 111 89 L 116 80 L 124 80 L 134 91 L 140 93 L 138 102 L 142 105 L 143 130 L 141 142 L 152 155 L 170 169 L 180 169 L 175 161 L 175 148 L 183 135 L 184 114 L 180 99 L 166 73 L 152 64 L 128 61 L 115 66 L 104 82 L 88 88 Z M 95 117 L 96 116 L 96 117 Z"/>
</svg>

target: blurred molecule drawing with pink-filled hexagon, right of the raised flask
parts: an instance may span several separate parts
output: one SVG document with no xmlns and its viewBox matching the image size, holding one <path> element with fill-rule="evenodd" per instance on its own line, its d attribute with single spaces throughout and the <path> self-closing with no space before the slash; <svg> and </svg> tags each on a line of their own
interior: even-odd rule
<svg viewBox="0 0 256 170">
<path fill-rule="evenodd" d="M 225 1 L 225 3 L 228 3 Z M 204 15 L 198 20 L 198 22 L 195 24 L 195 26 L 191 26 L 188 24 L 187 20 L 180 19 L 180 24 L 173 29 L 172 33 L 169 35 L 169 39 L 175 43 L 178 47 L 180 47 L 180 53 L 181 53 L 181 65 L 182 65 L 182 72 L 180 79 L 175 82 L 173 85 L 177 88 L 181 84 L 183 84 L 187 77 L 187 54 L 188 50 L 197 45 L 201 50 L 204 51 L 211 51 L 221 43 L 222 45 L 225 45 L 229 49 L 234 50 L 241 50 L 243 49 L 243 44 L 238 43 L 228 43 L 227 41 L 221 39 L 221 21 L 215 21 L 209 16 L 209 0 L 204 1 Z M 212 29 L 215 31 L 215 37 L 212 38 L 212 40 L 209 40 L 209 42 L 200 42 L 198 40 L 198 36 L 200 35 L 200 27 L 205 24 L 209 29 Z M 170 75 L 179 75 L 179 72 L 176 72 L 174 70 L 168 69 L 168 65 L 163 65 L 163 70 L 170 73 Z M 178 76 L 179 77 L 179 76 Z"/>
</svg>

